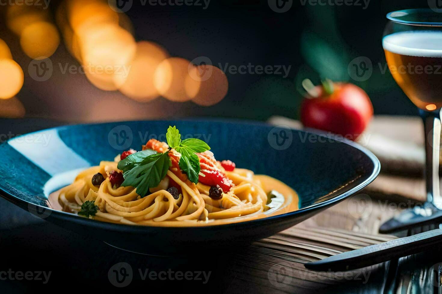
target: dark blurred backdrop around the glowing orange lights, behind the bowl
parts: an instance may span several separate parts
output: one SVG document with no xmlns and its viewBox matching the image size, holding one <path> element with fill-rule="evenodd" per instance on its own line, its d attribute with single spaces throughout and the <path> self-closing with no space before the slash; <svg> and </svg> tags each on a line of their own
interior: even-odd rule
<svg viewBox="0 0 442 294">
<path fill-rule="evenodd" d="M 8 25 L 8 5 L 2 5 L 0 38 L 23 69 L 24 84 L 13 98 L 14 102 L 12 99 L 0 101 L 0 108 L 4 108 L 0 115 L 69 123 L 172 116 L 297 118 L 302 98 L 301 81 L 310 78 L 319 83 L 320 78 L 325 77 L 362 87 L 373 102 L 375 114 L 417 115 L 415 106 L 388 70 L 385 73 L 382 70 L 385 56 L 381 40 L 389 11 L 428 8 L 427 1 L 370 0 L 367 3 L 354 0 L 348 2 L 352 5 L 336 6 L 328 4 L 328 0 L 320 1 L 326 5 L 312 0 L 293 0 L 286 4 L 292 3 L 289 11 L 283 13 L 271 9 L 273 0 L 211 0 L 207 7 L 203 0 L 198 1 L 201 6 L 172 6 L 170 1 L 164 1 L 167 5 L 155 6 L 149 5 L 149 1 L 146 5 L 141 0 L 132 1 L 126 15 L 132 23 L 135 40 L 154 41 L 170 56 L 186 60 L 206 56 L 214 66 L 229 68 L 225 72 L 229 90 L 221 102 L 208 107 L 162 97 L 138 102 L 118 90 L 103 91 L 93 86 L 84 74 L 62 74 L 59 64 L 63 67 L 80 65 L 66 48 L 63 33 L 60 45 L 50 56 L 52 76 L 38 82 L 28 71 L 32 58 L 23 52 L 20 37 Z M 55 15 L 61 4 L 59 0 L 50 1 L 48 11 L 54 24 L 58 23 Z M 57 29 L 61 31 L 59 26 Z M 352 60 L 361 56 L 368 57 L 373 71 L 366 80 L 356 81 L 347 68 Z M 232 66 L 248 64 L 271 66 L 273 71 L 281 69 L 273 74 L 256 71 L 240 74 L 231 70 Z M 290 70 L 284 72 L 284 68 Z"/>
</svg>

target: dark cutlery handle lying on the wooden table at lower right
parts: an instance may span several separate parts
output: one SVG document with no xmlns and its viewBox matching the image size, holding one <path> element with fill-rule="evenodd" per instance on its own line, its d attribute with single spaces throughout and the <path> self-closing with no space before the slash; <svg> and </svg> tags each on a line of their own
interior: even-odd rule
<svg viewBox="0 0 442 294">
<path fill-rule="evenodd" d="M 340 253 L 320 261 L 305 264 L 316 271 L 346 271 L 420 253 L 439 246 L 442 230 L 436 229 L 410 237 L 398 238 L 381 244 Z"/>
</svg>

